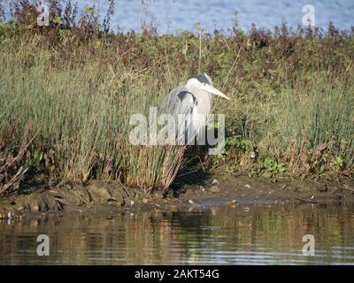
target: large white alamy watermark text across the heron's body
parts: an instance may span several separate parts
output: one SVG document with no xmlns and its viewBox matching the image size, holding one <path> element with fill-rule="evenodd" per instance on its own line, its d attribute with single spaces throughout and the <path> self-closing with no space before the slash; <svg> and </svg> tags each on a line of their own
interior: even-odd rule
<svg viewBox="0 0 354 283">
<path fill-rule="evenodd" d="M 225 115 L 159 114 L 150 107 L 149 118 L 141 113 L 132 115 L 129 133 L 133 145 L 208 145 L 209 155 L 221 155 L 225 148 Z M 196 128 L 196 121 L 202 126 Z M 217 125 L 217 126 L 215 126 Z"/>
</svg>

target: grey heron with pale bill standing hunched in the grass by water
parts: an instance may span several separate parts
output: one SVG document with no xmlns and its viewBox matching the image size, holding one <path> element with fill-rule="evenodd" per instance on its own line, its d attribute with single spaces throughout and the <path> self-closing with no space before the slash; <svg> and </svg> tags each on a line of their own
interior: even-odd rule
<svg viewBox="0 0 354 283">
<path fill-rule="evenodd" d="M 172 114 L 176 121 L 177 144 L 194 144 L 196 137 L 204 134 L 207 115 L 212 111 L 212 95 L 229 99 L 212 86 L 212 79 L 204 73 L 192 76 L 186 85 L 174 88 L 165 97 L 162 111 Z"/>
</svg>

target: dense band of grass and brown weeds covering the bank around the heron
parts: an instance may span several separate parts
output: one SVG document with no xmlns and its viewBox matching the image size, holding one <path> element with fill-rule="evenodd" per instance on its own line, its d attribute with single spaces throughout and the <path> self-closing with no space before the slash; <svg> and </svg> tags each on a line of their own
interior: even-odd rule
<svg viewBox="0 0 354 283">
<path fill-rule="evenodd" d="M 111 34 L 112 10 L 100 27 L 95 7 L 76 19 L 71 5 L 51 2 L 50 27 L 35 26 L 28 1 L 19 2 L 13 21 L 0 22 L 0 187 L 18 172 L 25 178 L 25 166 L 35 168 L 26 174 L 58 179 L 168 187 L 183 149 L 132 146 L 128 120 L 147 113 L 199 65 L 232 98 L 214 104 L 227 122 L 225 155 L 215 157 L 214 169 L 354 172 L 352 32 L 331 25 L 326 33 L 235 29 L 230 37 Z M 8 157 L 16 163 L 3 170 Z"/>
</svg>

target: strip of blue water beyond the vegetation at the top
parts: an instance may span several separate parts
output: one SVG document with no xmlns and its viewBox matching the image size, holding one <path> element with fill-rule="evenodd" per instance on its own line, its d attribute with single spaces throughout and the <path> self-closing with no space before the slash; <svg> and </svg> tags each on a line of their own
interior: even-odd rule
<svg viewBox="0 0 354 283">
<path fill-rule="evenodd" d="M 101 19 L 108 9 L 108 0 L 78 0 L 78 4 L 80 11 L 85 5 L 95 4 Z M 353 0 L 115 0 L 111 28 L 139 31 L 146 23 L 157 27 L 158 34 L 175 34 L 181 30 L 194 32 L 200 22 L 207 31 L 217 28 L 227 33 L 235 23 L 244 31 L 252 23 L 273 30 L 283 21 L 290 27 L 302 25 L 304 4 L 313 5 L 316 27 L 327 29 L 330 21 L 341 29 L 354 26 Z"/>
</svg>

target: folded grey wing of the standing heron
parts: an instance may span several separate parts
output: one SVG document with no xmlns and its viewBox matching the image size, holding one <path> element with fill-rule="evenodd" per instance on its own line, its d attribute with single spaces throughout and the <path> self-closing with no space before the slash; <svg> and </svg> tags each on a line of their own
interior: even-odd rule
<svg viewBox="0 0 354 283">
<path fill-rule="evenodd" d="M 169 113 L 174 117 L 177 125 L 176 138 L 179 143 L 185 144 L 191 139 L 194 140 L 195 131 L 193 129 L 192 114 L 196 103 L 196 97 L 183 86 L 174 88 L 162 103 L 161 113 Z M 184 123 L 184 125 L 181 123 Z M 188 140 L 185 139 L 186 133 L 188 133 Z"/>
</svg>

